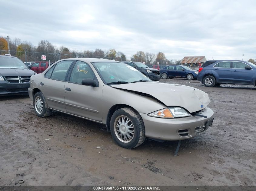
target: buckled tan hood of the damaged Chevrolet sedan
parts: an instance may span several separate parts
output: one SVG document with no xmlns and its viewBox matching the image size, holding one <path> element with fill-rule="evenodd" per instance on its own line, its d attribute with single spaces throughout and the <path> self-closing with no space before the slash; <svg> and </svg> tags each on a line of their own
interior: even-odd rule
<svg viewBox="0 0 256 191">
<path fill-rule="evenodd" d="M 205 92 L 179 84 L 149 81 L 111 85 L 111 87 L 134 92 L 135 94 L 149 94 L 166 106 L 183 107 L 190 113 L 202 110 L 210 103 L 208 94 Z"/>
</svg>

